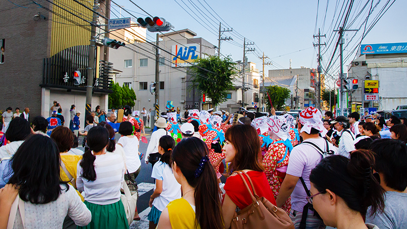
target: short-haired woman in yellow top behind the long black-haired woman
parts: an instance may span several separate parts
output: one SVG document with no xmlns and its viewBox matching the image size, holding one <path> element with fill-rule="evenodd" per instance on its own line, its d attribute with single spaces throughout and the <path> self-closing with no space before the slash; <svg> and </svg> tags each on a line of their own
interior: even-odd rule
<svg viewBox="0 0 407 229">
<path fill-rule="evenodd" d="M 61 181 L 68 182 L 68 184 L 72 185 L 76 189 L 76 166 L 78 161 L 82 159 L 80 155 L 73 155 L 68 153 L 68 151 L 73 146 L 73 133 L 68 127 L 59 126 L 52 130 L 50 136 L 58 146 L 61 155 L 61 164 L 64 164 L 68 173 L 72 177 L 72 179 L 68 178 L 68 175 L 65 173 L 63 167 L 61 166 L 60 169 L 60 178 Z M 82 202 L 84 201 L 83 196 L 80 194 L 78 190 L 76 190 L 79 197 L 81 198 Z M 75 223 L 69 216 L 67 216 L 64 220 L 63 228 L 76 228 Z"/>
</svg>

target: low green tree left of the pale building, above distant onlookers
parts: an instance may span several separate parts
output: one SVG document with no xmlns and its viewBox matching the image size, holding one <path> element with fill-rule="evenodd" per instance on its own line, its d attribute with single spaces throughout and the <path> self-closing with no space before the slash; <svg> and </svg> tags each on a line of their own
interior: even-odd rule
<svg viewBox="0 0 407 229">
<path fill-rule="evenodd" d="M 109 109 L 120 108 L 125 105 L 134 106 L 134 100 L 137 99 L 133 89 L 119 83 L 112 82 L 112 93 L 109 94 Z"/>
</svg>

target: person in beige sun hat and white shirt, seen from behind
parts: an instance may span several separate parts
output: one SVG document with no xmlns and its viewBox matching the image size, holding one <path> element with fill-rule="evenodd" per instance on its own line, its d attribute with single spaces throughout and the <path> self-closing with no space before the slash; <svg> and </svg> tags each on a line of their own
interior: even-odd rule
<svg viewBox="0 0 407 229">
<path fill-rule="evenodd" d="M 151 158 L 160 157 L 160 154 L 158 153 L 159 140 L 162 136 L 169 135 L 169 132 L 165 130 L 165 128 L 167 128 L 168 125 L 167 121 L 164 118 L 160 117 L 154 124 L 154 126 L 157 127 L 157 130 L 151 134 L 149 146 L 147 147 L 146 151 L 146 157 L 144 157 L 144 161 L 146 162 L 146 164 L 149 163 L 150 157 Z M 151 161 L 151 163 L 154 166 L 156 161 Z"/>
</svg>

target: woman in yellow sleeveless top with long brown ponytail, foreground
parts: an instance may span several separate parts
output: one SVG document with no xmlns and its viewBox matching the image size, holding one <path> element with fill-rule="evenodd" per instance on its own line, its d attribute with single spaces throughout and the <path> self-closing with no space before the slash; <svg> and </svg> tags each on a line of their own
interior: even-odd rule
<svg viewBox="0 0 407 229">
<path fill-rule="evenodd" d="M 196 137 L 184 138 L 172 149 L 171 168 L 183 197 L 162 211 L 158 229 L 224 228 L 219 186 L 208 153 L 205 142 Z"/>
</svg>

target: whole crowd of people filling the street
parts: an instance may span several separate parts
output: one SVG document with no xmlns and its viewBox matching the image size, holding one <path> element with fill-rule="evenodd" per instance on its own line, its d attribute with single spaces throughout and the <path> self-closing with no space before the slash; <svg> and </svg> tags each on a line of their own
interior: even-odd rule
<svg viewBox="0 0 407 229">
<path fill-rule="evenodd" d="M 148 141 L 145 108 L 125 106 L 122 118 L 98 106 L 82 132 L 75 105 L 69 128 L 56 101 L 51 117 L 31 123 L 9 108 L 0 229 L 129 228 L 140 216 L 122 195 L 128 188 L 138 196 L 142 162 L 152 165 L 155 181 L 149 228 L 265 226 L 271 221 L 253 222 L 264 212 L 240 218 L 259 202 L 272 206 L 267 217 L 279 217 L 284 228 L 407 228 L 407 123 L 394 116 L 192 109 L 183 124 L 177 112 L 161 113 Z M 84 151 L 75 149 L 78 134 Z"/>
</svg>

